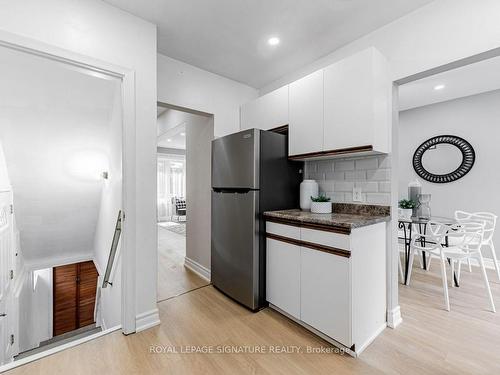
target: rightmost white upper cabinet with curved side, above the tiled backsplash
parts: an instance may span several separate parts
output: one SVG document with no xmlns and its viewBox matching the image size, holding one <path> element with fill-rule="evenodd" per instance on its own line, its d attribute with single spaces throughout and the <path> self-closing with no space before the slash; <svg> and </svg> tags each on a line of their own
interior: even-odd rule
<svg viewBox="0 0 500 375">
<path fill-rule="evenodd" d="M 330 65 L 324 85 L 323 151 L 390 152 L 392 85 L 384 56 L 369 48 Z"/>
</svg>

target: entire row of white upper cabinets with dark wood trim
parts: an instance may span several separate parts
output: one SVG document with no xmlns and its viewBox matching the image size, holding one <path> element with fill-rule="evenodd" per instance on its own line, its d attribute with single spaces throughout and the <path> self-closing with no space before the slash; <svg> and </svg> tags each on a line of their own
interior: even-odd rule
<svg viewBox="0 0 500 375">
<path fill-rule="evenodd" d="M 294 159 L 389 153 L 392 79 L 371 47 L 241 106 L 241 129 L 289 125 Z"/>
</svg>

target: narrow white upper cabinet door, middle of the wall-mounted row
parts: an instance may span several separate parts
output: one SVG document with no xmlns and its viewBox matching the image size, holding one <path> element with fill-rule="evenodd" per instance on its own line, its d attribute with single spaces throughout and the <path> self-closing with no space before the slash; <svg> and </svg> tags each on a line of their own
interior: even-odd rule
<svg viewBox="0 0 500 375">
<path fill-rule="evenodd" d="M 289 155 L 323 150 L 323 70 L 290 84 Z"/>
</svg>

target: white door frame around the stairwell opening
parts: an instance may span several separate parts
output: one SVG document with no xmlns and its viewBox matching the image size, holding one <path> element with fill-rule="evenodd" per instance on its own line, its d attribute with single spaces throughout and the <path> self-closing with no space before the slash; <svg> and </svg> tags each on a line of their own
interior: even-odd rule
<svg viewBox="0 0 500 375">
<path fill-rule="evenodd" d="M 123 202 L 126 213 L 122 230 L 122 317 L 121 328 L 124 334 L 136 330 L 136 121 L 135 121 L 135 71 L 85 55 L 55 47 L 35 39 L 26 38 L 0 30 L 0 47 L 44 57 L 61 64 L 70 65 L 100 77 L 115 77 L 121 80 L 122 87 L 122 172 Z"/>
</svg>

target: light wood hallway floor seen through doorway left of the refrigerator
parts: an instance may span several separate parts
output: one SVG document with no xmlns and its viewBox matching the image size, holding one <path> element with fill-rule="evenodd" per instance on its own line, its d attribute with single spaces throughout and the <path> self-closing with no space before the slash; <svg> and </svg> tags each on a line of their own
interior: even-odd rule
<svg viewBox="0 0 500 375">
<path fill-rule="evenodd" d="M 158 226 L 157 301 L 207 285 L 207 281 L 184 267 L 186 237 Z"/>
</svg>

